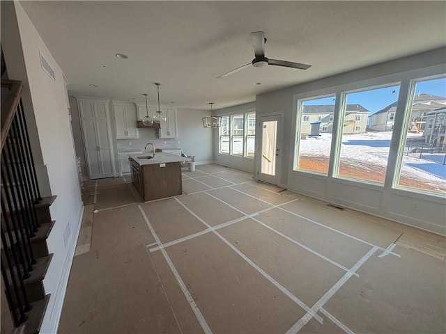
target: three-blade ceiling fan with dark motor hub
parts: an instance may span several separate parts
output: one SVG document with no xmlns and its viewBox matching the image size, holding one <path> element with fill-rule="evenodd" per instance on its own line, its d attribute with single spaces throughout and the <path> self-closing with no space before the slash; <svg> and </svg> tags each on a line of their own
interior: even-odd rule
<svg viewBox="0 0 446 334">
<path fill-rule="evenodd" d="M 254 67 L 275 65 L 275 66 L 298 68 L 299 70 L 307 70 L 307 68 L 312 67 L 312 65 L 293 63 L 292 61 L 278 61 L 277 59 L 266 58 L 266 56 L 265 56 L 266 38 L 265 38 L 265 33 L 263 31 L 252 32 L 251 33 L 251 42 L 252 42 L 252 47 L 254 48 L 254 54 L 255 54 L 256 58 L 254 58 L 251 63 L 247 63 L 246 65 L 237 67 L 236 69 L 226 72 L 217 78 L 227 77 L 233 73 L 243 70 L 246 67 L 249 67 L 249 65 L 253 65 Z"/>
</svg>

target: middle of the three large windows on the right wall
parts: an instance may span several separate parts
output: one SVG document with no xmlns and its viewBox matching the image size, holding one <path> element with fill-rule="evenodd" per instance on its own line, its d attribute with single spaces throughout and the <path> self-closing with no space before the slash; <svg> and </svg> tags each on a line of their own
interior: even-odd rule
<svg viewBox="0 0 446 334">
<path fill-rule="evenodd" d="M 387 116 L 396 111 L 398 95 L 399 86 L 346 94 L 339 176 L 384 183 L 394 122 Z"/>
</svg>

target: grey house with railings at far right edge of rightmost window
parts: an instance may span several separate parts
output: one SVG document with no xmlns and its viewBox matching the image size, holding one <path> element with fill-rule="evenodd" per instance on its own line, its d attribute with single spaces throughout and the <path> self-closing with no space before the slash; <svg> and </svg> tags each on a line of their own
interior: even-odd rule
<svg viewBox="0 0 446 334">
<path fill-rule="evenodd" d="M 426 122 L 424 129 L 424 141 L 426 144 L 442 147 L 446 146 L 446 106 L 436 109 L 423 116 Z"/>
</svg>

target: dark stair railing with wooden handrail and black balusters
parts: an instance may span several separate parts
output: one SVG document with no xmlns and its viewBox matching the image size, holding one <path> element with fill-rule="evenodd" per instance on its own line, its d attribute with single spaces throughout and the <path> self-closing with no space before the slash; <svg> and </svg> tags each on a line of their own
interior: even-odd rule
<svg viewBox="0 0 446 334">
<path fill-rule="evenodd" d="M 42 200 L 22 104 L 22 81 L 1 80 L 1 277 L 16 327 L 31 310 L 24 280 L 36 259 L 31 237 L 40 225 L 34 205 Z"/>
</svg>

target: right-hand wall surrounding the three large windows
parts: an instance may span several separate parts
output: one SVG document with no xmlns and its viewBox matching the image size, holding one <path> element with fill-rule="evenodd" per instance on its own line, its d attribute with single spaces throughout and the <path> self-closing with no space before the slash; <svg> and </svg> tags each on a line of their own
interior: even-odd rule
<svg viewBox="0 0 446 334">
<path fill-rule="evenodd" d="M 286 184 L 293 191 L 305 193 L 308 196 L 391 218 L 432 232 L 446 234 L 445 198 L 413 193 L 402 189 L 392 189 L 392 175 L 394 175 L 397 165 L 398 140 L 403 128 L 404 115 L 402 112 L 397 112 L 395 116 L 393 133 L 397 140 L 392 141 L 390 147 L 390 158 L 383 186 L 343 180 L 330 175 L 323 176 L 293 171 L 295 111 L 297 110 L 298 100 L 336 93 L 337 104 L 339 104 L 342 91 L 401 82 L 400 102 L 397 110 L 403 111 L 406 106 L 410 79 L 444 73 L 445 52 L 445 48 L 437 49 L 258 95 L 256 97 L 257 117 L 273 111 L 284 112 L 285 127 L 282 139 L 286 154 L 282 155 L 280 183 Z M 335 107 L 335 109 L 337 108 L 338 106 Z M 336 118 L 335 114 L 335 122 Z M 287 144 L 289 150 L 286 150 Z M 330 163 L 331 165 L 334 163 L 333 157 Z M 415 209 L 413 209 L 414 207 Z"/>
</svg>

